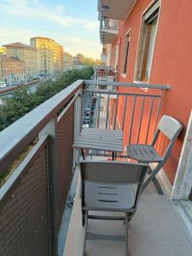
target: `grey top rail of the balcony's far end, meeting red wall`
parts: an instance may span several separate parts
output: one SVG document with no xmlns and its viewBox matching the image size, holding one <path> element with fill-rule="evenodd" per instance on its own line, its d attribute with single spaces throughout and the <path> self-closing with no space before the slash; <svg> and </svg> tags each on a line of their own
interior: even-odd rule
<svg viewBox="0 0 192 256">
<path fill-rule="evenodd" d="M 144 84 L 144 83 L 123 83 L 123 82 L 107 82 L 107 81 L 94 81 L 84 80 L 85 84 L 98 84 L 98 85 L 112 85 L 112 86 L 123 86 L 123 87 L 134 87 L 134 88 L 150 88 L 150 89 L 163 89 L 170 90 L 170 85 L 161 84 Z"/>
</svg>

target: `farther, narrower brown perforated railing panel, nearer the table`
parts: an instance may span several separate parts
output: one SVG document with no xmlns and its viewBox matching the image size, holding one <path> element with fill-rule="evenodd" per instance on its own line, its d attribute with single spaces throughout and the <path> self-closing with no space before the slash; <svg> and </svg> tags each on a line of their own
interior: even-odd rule
<svg viewBox="0 0 192 256">
<path fill-rule="evenodd" d="M 62 113 L 61 113 L 62 114 Z M 58 228 L 67 201 L 68 191 L 73 178 L 73 127 L 74 102 L 56 123 L 56 188 L 58 206 Z"/>
</svg>

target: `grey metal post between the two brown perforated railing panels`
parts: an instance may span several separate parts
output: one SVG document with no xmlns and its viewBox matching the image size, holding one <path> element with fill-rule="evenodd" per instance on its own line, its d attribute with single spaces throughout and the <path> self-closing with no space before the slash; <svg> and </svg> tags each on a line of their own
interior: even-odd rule
<svg viewBox="0 0 192 256">
<path fill-rule="evenodd" d="M 56 118 L 49 121 L 39 133 L 39 139 L 48 136 L 48 195 L 49 195 L 49 244 L 51 256 L 58 255 L 58 227 L 57 227 L 57 204 L 56 204 L 56 172 L 55 172 L 55 125 Z"/>
</svg>

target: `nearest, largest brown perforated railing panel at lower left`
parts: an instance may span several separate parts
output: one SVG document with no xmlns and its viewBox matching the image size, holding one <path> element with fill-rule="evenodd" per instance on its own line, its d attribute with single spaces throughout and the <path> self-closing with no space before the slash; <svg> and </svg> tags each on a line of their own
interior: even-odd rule
<svg viewBox="0 0 192 256">
<path fill-rule="evenodd" d="M 0 202 L 0 255 L 49 256 L 48 212 L 44 143 Z"/>
</svg>

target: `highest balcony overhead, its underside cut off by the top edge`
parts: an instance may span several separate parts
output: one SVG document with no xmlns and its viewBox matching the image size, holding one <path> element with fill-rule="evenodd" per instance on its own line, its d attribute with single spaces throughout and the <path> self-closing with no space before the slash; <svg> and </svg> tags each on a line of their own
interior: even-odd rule
<svg viewBox="0 0 192 256">
<path fill-rule="evenodd" d="M 137 0 L 98 0 L 97 10 L 100 16 L 114 20 L 125 20 L 127 14 L 131 12 L 132 7 Z"/>
</svg>

